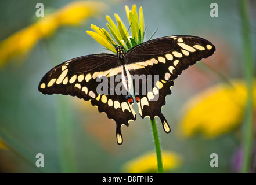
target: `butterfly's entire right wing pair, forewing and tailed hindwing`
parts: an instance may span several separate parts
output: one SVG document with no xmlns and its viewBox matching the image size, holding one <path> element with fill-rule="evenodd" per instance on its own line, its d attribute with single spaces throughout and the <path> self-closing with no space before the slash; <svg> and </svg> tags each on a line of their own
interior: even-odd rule
<svg viewBox="0 0 256 185">
<path fill-rule="evenodd" d="M 173 80 L 183 70 L 197 61 L 211 56 L 215 51 L 214 45 L 196 36 L 167 36 L 149 40 L 135 46 L 127 52 L 127 65 L 132 75 L 145 75 L 151 88 L 142 93 L 143 82 L 136 83 L 138 91 L 134 91 L 139 113 L 142 118 L 159 117 L 165 132 L 170 132 L 167 120 L 161 113 L 165 105 L 165 97 L 171 94 Z M 150 75 L 152 75 L 150 79 Z M 135 88 L 136 89 L 136 88 Z"/>
</svg>

